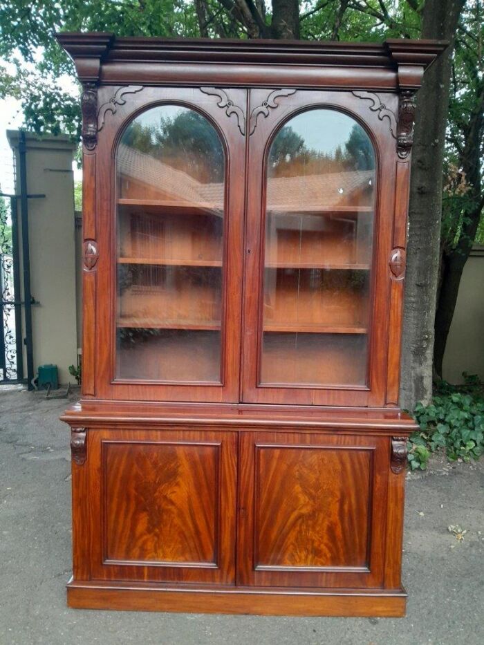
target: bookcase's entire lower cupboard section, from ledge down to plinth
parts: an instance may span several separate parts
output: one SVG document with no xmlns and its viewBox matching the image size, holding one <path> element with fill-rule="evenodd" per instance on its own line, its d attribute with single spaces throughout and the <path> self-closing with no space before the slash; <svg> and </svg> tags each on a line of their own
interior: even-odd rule
<svg viewBox="0 0 484 645">
<path fill-rule="evenodd" d="M 73 451 L 68 605 L 404 615 L 411 420 L 398 411 L 222 410 L 64 417 Z"/>
</svg>

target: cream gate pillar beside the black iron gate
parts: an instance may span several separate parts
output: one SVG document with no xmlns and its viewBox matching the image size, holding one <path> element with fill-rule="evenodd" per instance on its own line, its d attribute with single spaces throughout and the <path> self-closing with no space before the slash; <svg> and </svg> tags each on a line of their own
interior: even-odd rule
<svg viewBox="0 0 484 645">
<path fill-rule="evenodd" d="M 7 136 L 18 157 L 18 131 L 9 130 Z M 39 301 L 32 306 L 34 370 L 57 364 L 61 384 L 75 383 L 68 366 L 77 362 L 75 148 L 64 135 L 38 139 L 26 134 L 28 193 L 46 196 L 28 200 L 30 290 Z M 18 168 L 17 158 L 17 181 Z"/>
</svg>

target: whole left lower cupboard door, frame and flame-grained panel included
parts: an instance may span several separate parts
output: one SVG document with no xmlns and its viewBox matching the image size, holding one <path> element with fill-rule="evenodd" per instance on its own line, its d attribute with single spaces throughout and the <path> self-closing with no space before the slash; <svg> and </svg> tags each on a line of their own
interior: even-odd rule
<svg viewBox="0 0 484 645">
<path fill-rule="evenodd" d="M 93 579 L 234 583 L 236 433 L 92 431 L 89 442 Z"/>
</svg>

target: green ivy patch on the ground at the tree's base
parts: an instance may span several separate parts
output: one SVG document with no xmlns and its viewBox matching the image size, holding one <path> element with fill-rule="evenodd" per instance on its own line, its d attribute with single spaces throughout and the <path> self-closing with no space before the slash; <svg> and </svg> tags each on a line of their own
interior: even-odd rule
<svg viewBox="0 0 484 645">
<path fill-rule="evenodd" d="M 478 377 L 464 373 L 465 384 L 442 382 L 431 404 L 416 405 L 413 418 L 420 430 L 409 438 L 412 470 L 427 468 L 432 453 L 445 449 L 450 461 L 468 462 L 484 452 L 484 387 Z"/>
</svg>

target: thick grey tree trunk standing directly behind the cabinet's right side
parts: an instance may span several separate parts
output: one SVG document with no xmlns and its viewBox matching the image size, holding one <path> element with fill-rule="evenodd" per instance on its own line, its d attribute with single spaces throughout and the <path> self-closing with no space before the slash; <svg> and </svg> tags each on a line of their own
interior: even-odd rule
<svg viewBox="0 0 484 645">
<path fill-rule="evenodd" d="M 417 95 L 402 341 L 400 404 L 413 410 L 432 393 L 434 321 L 440 250 L 443 156 L 454 37 L 465 0 L 427 0 L 423 39 L 450 46 L 427 71 Z"/>
</svg>

